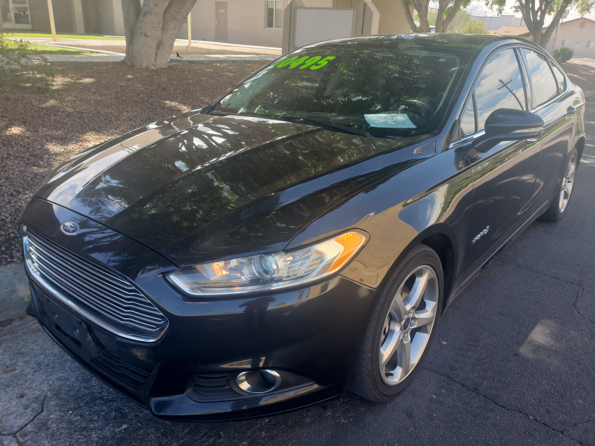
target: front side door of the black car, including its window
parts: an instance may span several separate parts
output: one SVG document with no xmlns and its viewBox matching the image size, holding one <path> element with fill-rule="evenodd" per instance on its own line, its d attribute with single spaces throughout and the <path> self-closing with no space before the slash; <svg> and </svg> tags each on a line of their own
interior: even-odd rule
<svg viewBox="0 0 595 446">
<path fill-rule="evenodd" d="M 502 236 L 530 206 L 541 156 L 541 139 L 497 143 L 487 152 L 473 149 L 483 135 L 487 117 L 497 109 L 527 111 L 527 81 L 518 52 L 507 48 L 488 59 L 461 119 L 473 175 L 473 205 L 464 270 L 471 275 L 503 243 Z"/>
</svg>

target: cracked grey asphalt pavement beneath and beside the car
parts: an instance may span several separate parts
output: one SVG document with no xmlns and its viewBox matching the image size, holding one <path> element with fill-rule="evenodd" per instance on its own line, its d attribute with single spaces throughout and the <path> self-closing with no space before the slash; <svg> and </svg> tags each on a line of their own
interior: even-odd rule
<svg viewBox="0 0 595 446">
<path fill-rule="evenodd" d="M 588 105 L 587 133 L 595 133 Z M 0 331 L 0 446 L 595 445 L 595 140 L 557 224 L 537 221 L 444 313 L 415 382 L 233 423 L 172 423 L 111 390 L 29 317 Z"/>
</svg>

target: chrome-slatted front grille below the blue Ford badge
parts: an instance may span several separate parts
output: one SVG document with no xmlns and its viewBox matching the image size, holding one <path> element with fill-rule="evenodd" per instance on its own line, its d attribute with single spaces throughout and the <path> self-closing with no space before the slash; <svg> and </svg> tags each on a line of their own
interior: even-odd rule
<svg viewBox="0 0 595 446">
<path fill-rule="evenodd" d="M 34 279 L 80 315 L 122 337 L 157 340 L 165 316 L 130 282 L 24 228 L 24 255 Z"/>
</svg>

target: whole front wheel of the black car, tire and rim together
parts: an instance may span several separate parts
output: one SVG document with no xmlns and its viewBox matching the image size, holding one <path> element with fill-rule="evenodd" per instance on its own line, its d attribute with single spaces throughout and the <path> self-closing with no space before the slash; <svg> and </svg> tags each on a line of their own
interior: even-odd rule
<svg viewBox="0 0 595 446">
<path fill-rule="evenodd" d="M 415 246 L 403 259 L 384 288 L 364 335 L 353 369 L 353 392 L 384 402 L 411 384 L 436 331 L 443 281 L 440 258 L 425 244 Z M 403 359 L 407 356 L 408 361 Z"/>
</svg>

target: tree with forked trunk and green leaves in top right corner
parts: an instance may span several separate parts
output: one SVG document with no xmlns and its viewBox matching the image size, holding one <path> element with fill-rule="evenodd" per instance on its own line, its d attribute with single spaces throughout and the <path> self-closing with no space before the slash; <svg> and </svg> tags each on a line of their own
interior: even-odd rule
<svg viewBox="0 0 595 446">
<path fill-rule="evenodd" d="M 506 0 L 486 0 L 486 5 L 495 8 L 499 14 L 502 14 Z M 521 12 L 525 24 L 533 36 L 533 42 L 541 48 L 545 48 L 568 8 L 585 15 L 591 12 L 594 5 L 595 0 L 540 0 L 539 2 L 516 0 L 515 10 Z M 548 15 L 553 15 L 552 22 L 544 29 L 543 24 Z"/>
</svg>

